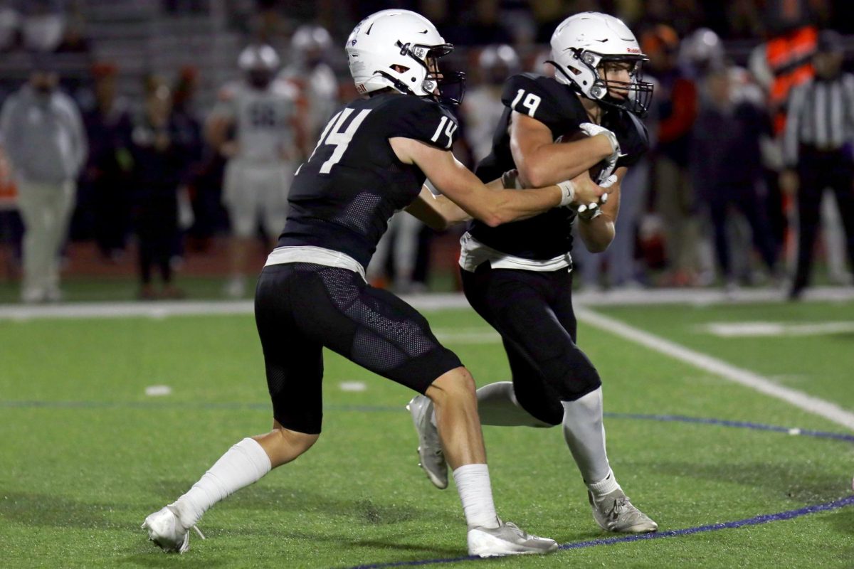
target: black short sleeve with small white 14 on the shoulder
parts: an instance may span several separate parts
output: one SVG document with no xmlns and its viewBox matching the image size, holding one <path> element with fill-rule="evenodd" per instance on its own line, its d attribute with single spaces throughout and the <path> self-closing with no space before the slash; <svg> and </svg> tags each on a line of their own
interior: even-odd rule
<svg viewBox="0 0 854 569">
<path fill-rule="evenodd" d="M 442 150 L 449 150 L 457 140 L 457 120 L 437 102 L 410 95 L 395 96 L 383 112 L 388 113 L 389 138 L 412 138 Z"/>
</svg>

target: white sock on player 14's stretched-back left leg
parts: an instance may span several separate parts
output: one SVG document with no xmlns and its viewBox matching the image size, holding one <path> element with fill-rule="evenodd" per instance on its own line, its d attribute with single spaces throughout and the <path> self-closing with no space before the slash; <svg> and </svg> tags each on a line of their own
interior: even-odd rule
<svg viewBox="0 0 854 569">
<path fill-rule="evenodd" d="M 270 458 L 254 438 L 244 438 L 219 457 L 184 496 L 169 504 L 185 527 L 196 525 L 208 508 L 270 472 Z"/>
</svg>

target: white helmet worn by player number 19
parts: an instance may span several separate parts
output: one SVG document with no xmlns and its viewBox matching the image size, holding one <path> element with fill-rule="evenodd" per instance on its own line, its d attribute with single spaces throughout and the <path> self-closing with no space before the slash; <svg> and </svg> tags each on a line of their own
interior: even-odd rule
<svg viewBox="0 0 854 569">
<path fill-rule="evenodd" d="M 608 61 L 633 64 L 629 83 L 600 76 L 599 67 Z M 645 114 L 652 101 L 652 83 L 642 80 L 640 67 L 649 58 L 640 50 L 629 26 L 614 16 L 582 12 L 560 23 L 552 35 L 555 78 L 594 101 Z M 628 90 L 626 99 L 608 94 L 608 88 Z"/>
</svg>

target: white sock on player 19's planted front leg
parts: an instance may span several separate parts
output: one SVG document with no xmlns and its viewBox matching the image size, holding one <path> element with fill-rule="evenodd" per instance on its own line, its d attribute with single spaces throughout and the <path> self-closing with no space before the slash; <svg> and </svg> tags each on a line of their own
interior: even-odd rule
<svg viewBox="0 0 854 569">
<path fill-rule="evenodd" d="M 611 473 L 602 424 L 602 388 L 575 401 L 564 401 L 564 440 L 586 484 Z"/>
</svg>

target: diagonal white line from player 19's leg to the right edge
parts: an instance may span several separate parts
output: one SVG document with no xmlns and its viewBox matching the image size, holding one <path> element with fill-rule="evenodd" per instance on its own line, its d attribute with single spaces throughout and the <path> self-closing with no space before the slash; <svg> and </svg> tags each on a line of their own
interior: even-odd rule
<svg viewBox="0 0 854 569">
<path fill-rule="evenodd" d="M 591 311 L 585 308 L 577 308 L 576 316 L 582 322 L 585 322 L 596 328 L 605 330 L 611 334 L 621 336 L 626 340 L 631 340 L 636 344 L 644 345 L 647 348 L 658 351 L 666 356 L 673 357 L 681 362 L 688 363 L 695 368 L 705 369 L 712 374 L 716 374 L 725 380 L 738 383 L 742 386 L 768 395 L 769 397 L 781 399 L 787 404 L 794 405 L 798 409 L 804 409 L 813 415 L 819 415 L 828 421 L 833 421 L 837 425 L 847 427 L 854 431 L 854 413 L 842 409 L 839 405 L 825 401 L 824 399 L 813 397 L 807 393 L 799 392 L 796 389 L 790 389 L 776 384 L 774 381 L 763 377 L 760 374 L 755 374 L 746 369 L 736 368 L 734 365 L 723 362 L 716 357 L 707 356 L 699 351 L 693 351 L 684 346 L 678 345 L 670 340 L 664 340 L 656 335 L 649 334 L 629 326 L 629 324 L 619 322 L 608 316 Z"/>
</svg>

